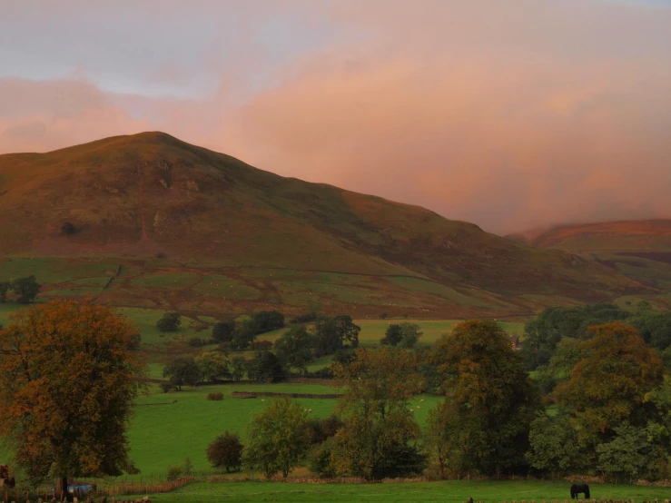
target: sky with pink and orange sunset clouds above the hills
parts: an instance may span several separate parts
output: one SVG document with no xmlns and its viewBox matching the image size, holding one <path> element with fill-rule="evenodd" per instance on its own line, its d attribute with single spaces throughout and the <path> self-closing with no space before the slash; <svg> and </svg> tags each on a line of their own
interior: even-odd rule
<svg viewBox="0 0 671 503">
<path fill-rule="evenodd" d="M 143 131 L 489 232 L 671 217 L 671 0 L 0 0 L 0 153 Z"/>
</svg>

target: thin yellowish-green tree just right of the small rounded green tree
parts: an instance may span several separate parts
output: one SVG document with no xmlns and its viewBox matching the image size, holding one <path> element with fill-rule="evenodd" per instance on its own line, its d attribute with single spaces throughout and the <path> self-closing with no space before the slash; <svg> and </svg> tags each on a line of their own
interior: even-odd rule
<svg viewBox="0 0 671 503">
<path fill-rule="evenodd" d="M 410 351 L 358 349 L 349 365 L 333 364 L 343 394 L 337 410 L 345 425 L 332 446 L 333 471 L 367 479 L 412 475 L 423 459 L 419 427 L 408 400 L 421 389 Z"/>
</svg>

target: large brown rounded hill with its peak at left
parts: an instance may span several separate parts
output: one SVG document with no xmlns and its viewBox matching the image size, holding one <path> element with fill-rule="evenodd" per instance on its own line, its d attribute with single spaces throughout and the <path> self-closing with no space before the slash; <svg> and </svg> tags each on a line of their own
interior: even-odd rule
<svg viewBox="0 0 671 503">
<path fill-rule="evenodd" d="M 74 232 L 64 232 L 65 222 Z M 283 178 L 165 133 L 0 155 L 0 255 L 133 258 L 152 274 L 163 267 L 154 259 L 166 256 L 164 271 L 172 273 L 277 268 L 389 277 L 408 299 L 433 295 L 429 311 L 443 306 L 448 314 L 478 306 L 528 311 L 646 290 L 574 254 L 511 242 L 418 206 Z M 270 276 L 255 277 L 274 288 Z M 440 285 L 455 292 L 451 299 L 431 291 Z M 269 301 L 259 288 L 259 299 Z M 281 289 L 273 295 L 289 302 Z M 320 301 L 329 303 L 329 295 Z M 403 309 L 403 295 L 394 295 Z"/>
</svg>

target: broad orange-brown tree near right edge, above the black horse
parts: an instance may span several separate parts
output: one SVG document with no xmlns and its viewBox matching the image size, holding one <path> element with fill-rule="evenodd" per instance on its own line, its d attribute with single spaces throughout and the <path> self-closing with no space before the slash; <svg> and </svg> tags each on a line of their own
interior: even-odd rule
<svg viewBox="0 0 671 503">
<path fill-rule="evenodd" d="M 649 397 L 664 384 L 664 364 L 630 325 L 597 325 L 588 337 L 580 343 L 585 358 L 558 386 L 557 396 L 573 414 L 581 447 L 594 455 L 594 448 L 625 422 L 646 428 L 663 420 L 666 410 Z"/>
</svg>

